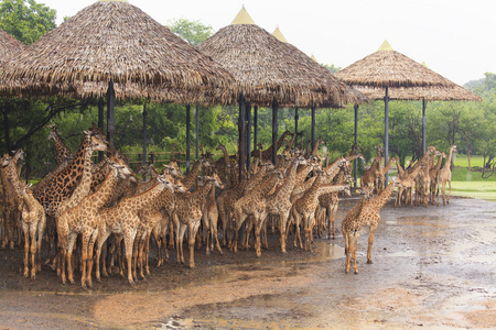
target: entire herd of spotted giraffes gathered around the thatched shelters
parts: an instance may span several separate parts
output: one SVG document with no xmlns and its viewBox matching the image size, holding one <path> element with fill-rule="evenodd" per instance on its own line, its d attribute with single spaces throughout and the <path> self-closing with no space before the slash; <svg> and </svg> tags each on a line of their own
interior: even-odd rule
<svg viewBox="0 0 496 330">
<path fill-rule="evenodd" d="M 316 147 L 310 152 L 292 147 L 294 134 L 287 131 L 277 141 L 278 150 L 287 142 L 277 165 L 269 161 L 273 146 L 265 151 L 260 147 L 252 153 L 251 173 L 245 170 L 238 177 L 238 165 L 220 144 L 219 161 L 214 162 L 212 154 L 203 154 L 202 148 L 202 157 L 186 175 L 181 174 L 172 160 L 160 170 L 152 165 L 141 166 L 137 173 L 150 177 L 142 182 L 125 157 L 108 150 L 106 136 L 98 128 L 94 125 L 83 135 L 79 148 L 73 154 L 56 129 L 51 128 L 48 140 L 54 141 L 57 166 L 32 187 L 20 179 L 22 150 L 0 160 L 1 248 L 13 249 L 15 242 L 24 240 L 24 277 L 35 278 L 41 271 L 43 240 L 47 250 L 45 263 L 51 263 L 61 282 L 74 284 L 77 268 L 84 288 L 93 287 L 93 273 L 98 282 L 101 275 L 108 276 L 107 268 L 114 261 L 131 285 L 144 278 L 150 274 L 150 242 L 157 244 L 157 265 L 161 266 L 169 258 L 169 250 L 174 248 L 176 262 L 185 263 L 183 241 L 186 238 L 190 268 L 195 267 L 195 250 L 204 243 L 206 254 L 215 250 L 224 254 L 223 248 L 236 253 L 238 244 L 241 249 L 254 244 L 260 257 L 262 248 L 268 249 L 269 226 L 272 232 L 276 228 L 279 232 L 282 253 L 287 253 L 291 234 L 294 246 L 311 250 L 315 237 L 335 238 L 339 196 L 351 196 L 352 162 L 363 158 L 359 147 L 354 145 L 348 155 L 323 165 L 327 162 L 323 162 Z M 287 136 L 293 139 L 288 141 Z M 319 143 L 324 141 L 320 139 Z M 105 151 L 107 156 L 94 164 L 94 152 Z M 367 262 L 371 263 L 379 211 L 395 187 L 398 187 L 395 206 L 439 205 L 440 195 L 443 205 L 450 201 L 450 164 L 455 146 L 449 156 L 431 146 L 407 169 L 395 157 L 382 167 L 382 152 L 378 146 L 370 168 L 360 178 L 363 197 L 342 222 L 346 273 L 352 261 L 355 273 L 358 272 L 357 241 L 364 226 L 370 228 Z M 448 158 L 444 166 L 443 158 Z M 398 176 L 384 188 L 385 174 L 392 163 L 398 167 Z M 436 189 L 441 193 L 435 194 Z"/>
</svg>

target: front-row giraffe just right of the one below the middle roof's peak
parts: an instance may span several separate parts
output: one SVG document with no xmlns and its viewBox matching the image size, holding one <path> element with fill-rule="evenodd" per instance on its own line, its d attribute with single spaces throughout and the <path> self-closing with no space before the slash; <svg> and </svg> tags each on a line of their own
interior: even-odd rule
<svg viewBox="0 0 496 330">
<path fill-rule="evenodd" d="M 269 217 L 276 216 L 279 219 L 278 224 L 282 253 L 285 253 L 285 228 L 289 212 L 291 210 L 290 197 L 291 193 L 294 189 L 294 185 L 296 184 L 296 168 L 300 164 L 306 164 L 306 161 L 303 156 L 298 156 L 296 158 L 294 158 L 282 186 L 279 187 L 276 193 L 267 196 L 266 198 L 267 215 Z"/>
</svg>

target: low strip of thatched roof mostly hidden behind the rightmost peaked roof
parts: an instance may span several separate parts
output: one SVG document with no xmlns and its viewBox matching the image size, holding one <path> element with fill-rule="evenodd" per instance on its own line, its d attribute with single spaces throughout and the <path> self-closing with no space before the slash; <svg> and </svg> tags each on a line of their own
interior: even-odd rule
<svg viewBox="0 0 496 330">
<path fill-rule="evenodd" d="M 369 99 L 381 100 L 385 97 L 384 88 L 355 86 Z M 391 100 L 422 100 L 425 101 L 482 101 L 482 98 L 465 88 L 455 85 L 427 86 L 427 87 L 391 87 L 389 88 L 389 99 Z"/>
</svg>

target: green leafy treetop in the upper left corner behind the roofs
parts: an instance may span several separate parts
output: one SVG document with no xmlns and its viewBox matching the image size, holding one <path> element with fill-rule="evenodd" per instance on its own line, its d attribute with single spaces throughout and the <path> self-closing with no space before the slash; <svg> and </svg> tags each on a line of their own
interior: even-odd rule
<svg viewBox="0 0 496 330">
<path fill-rule="evenodd" d="M 56 11 L 34 0 L 0 2 L 0 28 L 29 45 L 56 28 Z"/>
</svg>

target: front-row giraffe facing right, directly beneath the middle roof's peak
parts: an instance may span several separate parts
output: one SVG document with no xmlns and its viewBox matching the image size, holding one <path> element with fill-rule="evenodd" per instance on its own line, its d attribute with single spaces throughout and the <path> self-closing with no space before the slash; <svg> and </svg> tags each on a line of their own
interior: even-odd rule
<svg viewBox="0 0 496 330">
<path fill-rule="evenodd" d="M 235 239 L 233 242 L 231 250 L 237 252 L 238 250 L 238 231 L 242 223 L 248 217 L 252 217 L 255 221 L 255 238 L 256 238 L 256 254 L 259 257 L 261 255 L 261 244 L 260 244 L 260 231 L 263 224 L 263 220 L 267 216 L 266 210 L 266 196 L 274 189 L 279 180 L 282 179 L 282 175 L 274 170 L 270 178 L 267 179 L 262 185 L 254 188 L 239 198 L 234 204 L 234 216 L 235 216 Z M 246 233 L 249 234 L 248 231 Z"/>
</svg>

